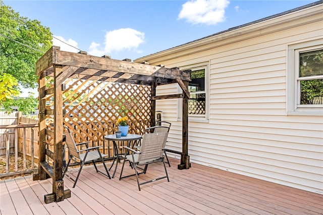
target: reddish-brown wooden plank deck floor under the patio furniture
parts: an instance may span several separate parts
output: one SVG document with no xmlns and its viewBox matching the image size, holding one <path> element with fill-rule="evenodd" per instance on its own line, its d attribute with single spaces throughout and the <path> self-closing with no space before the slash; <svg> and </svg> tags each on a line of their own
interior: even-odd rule
<svg viewBox="0 0 323 215">
<path fill-rule="evenodd" d="M 197 164 L 178 170 L 178 164 L 171 158 L 170 182 L 148 183 L 141 191 L 135 177 L 119 181 L 121 165 L 112 180 L 86 166 L 75 188 L 64 178 L 72 196 L 49 204 L 44 195 L 51 193 L 51 179 L 0 181 L 1 214 L 323 214 L 323 195 Z M 160 175 L 160 167 L 150 165 L 141 177 Z"/>
</svg>

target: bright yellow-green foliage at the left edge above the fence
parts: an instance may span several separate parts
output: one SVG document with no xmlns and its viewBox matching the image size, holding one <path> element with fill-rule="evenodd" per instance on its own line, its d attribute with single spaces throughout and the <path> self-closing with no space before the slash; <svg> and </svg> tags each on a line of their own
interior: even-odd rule
<svg viewBox="0 0 323 215">
<path fill-rule="evenodd" d="M 17 85 L 17 80 L 12 75 L 0 74 L 0 105 L 7 99 L 12 99 L 12 96 L 20 94 Z"/>
</svg>

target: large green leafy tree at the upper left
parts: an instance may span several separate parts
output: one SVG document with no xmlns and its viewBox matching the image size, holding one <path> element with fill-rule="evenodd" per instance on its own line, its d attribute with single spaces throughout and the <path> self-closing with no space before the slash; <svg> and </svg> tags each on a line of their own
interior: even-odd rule
<svg viewBox="0 0 323 215">
<path fill-rule="evenodd" d="M 35 64 L 51 45 L 48 27 L 21 17 L 0 0 L 0 74 L 11 74 L 23 87 L 35 88 Z"/>
</svg>

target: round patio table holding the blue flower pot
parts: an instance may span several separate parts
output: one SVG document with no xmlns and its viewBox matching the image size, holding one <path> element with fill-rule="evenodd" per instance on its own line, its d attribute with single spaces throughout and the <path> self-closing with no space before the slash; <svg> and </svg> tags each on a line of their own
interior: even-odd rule
<svg viewBox="0 0 323 215">
<path fill-rule="evenodd" d="M 110 135 L 105 135 L 104 139 L 113 142 L 114 155 L 113 155 L 113 163 L 110 167 L 111 169 L 116 161 L 116 167 L 112 175 L 112 178 L 113 178 L 115 177 L 118 163 L 120 162 L 121 159 L 124 159 L 126 157 L 125 153 L 119 153 L 120 142 L 126 141 L 127 146 L 132 148 L 134 145 L 138 145 L 139 141 L 142 139 L 142 136 L 140 134 L 128 134 L 127 136 L 121 136 L 121 138 L 117 138 L 116 134 L 110 134 Z"/>
</svg>

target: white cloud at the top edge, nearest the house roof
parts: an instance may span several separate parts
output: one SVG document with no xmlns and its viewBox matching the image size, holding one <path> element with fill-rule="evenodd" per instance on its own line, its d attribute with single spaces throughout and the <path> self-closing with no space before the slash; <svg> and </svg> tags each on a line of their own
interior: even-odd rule
<svg viewBox="0 0 323 215">
<path fill-rule="evenodd" d="M 228 0 L 191 0 L 182 5 L 178 19 L 185 19 L 192 24 L 215 25 L 224 22 Z"/>
</svg>

